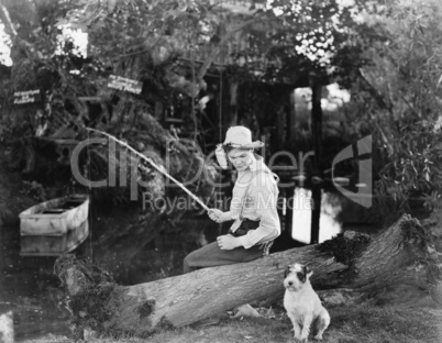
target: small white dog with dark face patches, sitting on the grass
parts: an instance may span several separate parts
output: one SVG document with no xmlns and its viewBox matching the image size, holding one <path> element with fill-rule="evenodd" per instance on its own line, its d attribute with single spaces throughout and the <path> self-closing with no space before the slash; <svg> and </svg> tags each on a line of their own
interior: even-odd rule
<svg viewBox="0 0 442 343">
<path fill-rule="evenodd" d="M 314 340 L 322 340 L 322 334 L 330 324 L 330 314 L 322 307 L 321 300 L 310 284 L 313 274 L 308 267 L 294 264 L 284 275 L 284 307 L 294 324 L 295 339 L 308 341 L 310 325 L 314 324 Z"/>
</svg>

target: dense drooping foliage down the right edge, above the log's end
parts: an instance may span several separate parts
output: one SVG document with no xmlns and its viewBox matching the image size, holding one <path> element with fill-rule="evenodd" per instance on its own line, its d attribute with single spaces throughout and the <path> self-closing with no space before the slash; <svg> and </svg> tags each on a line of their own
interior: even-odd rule
<svg viewBox="0 0 442 343">
<path fill-rule="evenodd" d="M 364 13 L 384 38 L 364 51 L 371 64 L 354 85 L 354 112 L 375 133 L 377 192 L 406 208 L 411 197 L 429 209 L 441 202 L 441 20 L 437 0 L 372 1 Z"/>
</svg>

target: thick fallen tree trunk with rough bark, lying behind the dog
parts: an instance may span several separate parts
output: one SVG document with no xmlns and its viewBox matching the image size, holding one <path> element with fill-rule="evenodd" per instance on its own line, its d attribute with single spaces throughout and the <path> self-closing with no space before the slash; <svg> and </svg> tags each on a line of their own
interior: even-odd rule
<svg viewBox="0 0 442 343">
<path fill-rule="evenodd" d="M 442 303 L 442 274 L 431 234 L 407 214 L 374 237 L 346 232 L 322 244 L 254 262 L 134 286 L 118 286 L 108 276 L 93 277 L 78 265 L 60 261 L 56 270 L 71 302 L 81 299 L 71 306 L 75 324 L 143 336 L 158 328 L 188 325 L 242 303 L 281 298 L 284 269 L 295 262 L 314 272 L 311 281 L 317 290 L 376 291 L 412 284 L 428 289 Z M 89 286 L 85 286 L 87 280 Z"/>
</svg>

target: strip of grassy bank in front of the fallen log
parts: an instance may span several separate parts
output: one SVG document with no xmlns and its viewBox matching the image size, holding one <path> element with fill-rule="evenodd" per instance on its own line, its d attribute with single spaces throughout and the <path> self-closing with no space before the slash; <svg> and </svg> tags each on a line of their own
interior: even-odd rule
<svg viewBox="0 0 442 343">
<path fill-rule="evenodd" d="M 328 343 L 423 343 L 442 342 L 442 311 L 430 308 L 375 307 L 369 305 L 329 307 L 332 318 L 323 342 Z M 258 319 L 222 320 L 217 325 L 162 331 L 147 339 L 98 339 L 96 343 L 287 343 L 291 323 L 281 309 Z M 26 343 L 71 343 L 46 336 Z"/>
</svg>

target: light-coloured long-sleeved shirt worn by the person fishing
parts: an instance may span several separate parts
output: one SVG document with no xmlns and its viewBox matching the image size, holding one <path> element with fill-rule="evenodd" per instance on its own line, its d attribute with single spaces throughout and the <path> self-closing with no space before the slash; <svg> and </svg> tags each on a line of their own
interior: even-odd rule
<svg viewBox="0 0 442 343">
<path fill-rule="evenodd" d="M 278 186 L 270 169 L 257 156 L 244 170 L 237 173 L 233 187 L 230 211 L 234 222 L 231 230 L 235 232 L 243 219 L 259 220 L 259 226 L 250 230 L 239 240 L 244 248 L 275 240 L 280 234 L 280 222 L 276 209 Z"/>
</svg>

